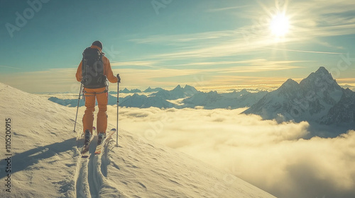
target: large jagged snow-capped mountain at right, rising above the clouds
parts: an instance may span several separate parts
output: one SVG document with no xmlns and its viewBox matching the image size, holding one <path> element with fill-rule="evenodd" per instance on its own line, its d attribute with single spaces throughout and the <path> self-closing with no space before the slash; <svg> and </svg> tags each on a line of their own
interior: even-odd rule
<svg viewBox="0 0 355 198">
<path fill-rule="evenodd" d="M 243 113 L 264 119 L 354 124 L 354 108 L 348 108 L 354 106 L 354 99 L 354 92 L 340 87 L 321 66 L 300 83 L 288 79 Z M 343 112 L 339 108 L 348 109 Z"/>
</svg>

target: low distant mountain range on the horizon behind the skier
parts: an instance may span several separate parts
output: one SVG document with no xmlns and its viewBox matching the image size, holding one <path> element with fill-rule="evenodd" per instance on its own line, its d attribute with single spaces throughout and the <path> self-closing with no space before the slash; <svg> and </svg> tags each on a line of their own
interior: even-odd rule
<svg viewBox="0 0 355 198">
<path fill-rule="evenodd" d="M 119 98 L 119 106 L 121 107 L 159 107 L 159 108 L 184 108 L 184 107 L 204 107 L 205 109 L 215 108 L 231 108 L 236 109 L 239 107 L 250 107 L 254 103 L 258 102 L 266 91 L 260 91 L 258 93 L 251 93 L 245 89 L 242 91 L 233 91 L 231 93 L 217 93 L 217 91 L 211 91 L 204 93 L 197 91 L 193 86 L 186 85 L 176 86 L 173 90 L 165 90 L 163 88 L 147 88 L 144 93 L 151 93 L 150 95 L 140 95 L 142 93 L 139 90 L 129 91 L 127 88 L 120 91 L 120 93 L 134 93 L 128 95 L 125 98 Z M 117 92 L 110 92 L 109 105 L 116 105 L 117 99 L 111 94 Z M 182 103 L 176 105 L 169 100 L 182 99 Z M 57 97 L 50 97 L 48 100 L 58 103 L 60 105 L 76 107 L 77 99 L 60 99 Z M 80 100 L 80 106 L 84 105 L 84 100 Z"/>
</svg>

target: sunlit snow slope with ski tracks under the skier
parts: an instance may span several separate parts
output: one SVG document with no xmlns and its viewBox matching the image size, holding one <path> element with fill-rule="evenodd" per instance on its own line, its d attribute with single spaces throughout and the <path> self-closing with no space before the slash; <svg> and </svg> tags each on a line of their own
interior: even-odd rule
<svg viewBox="0 0 355 198">
<path fill-rule="evenodd" d="M 1 131 L 11 119 L 11 192 L 4 141 L 0 197 L 273 197 L 238 177 L 119 130 L 101 156 L 80 157 L 80 112 L 0 83 Z M 113 127 L 109 125 L 109 127 Z M 1 132 L 4 135 L 4 132 Z M 114 137 L 116 139 L 116 137 Z M 93 153 L 94 143 L 90 148 Z"/>
</svg>

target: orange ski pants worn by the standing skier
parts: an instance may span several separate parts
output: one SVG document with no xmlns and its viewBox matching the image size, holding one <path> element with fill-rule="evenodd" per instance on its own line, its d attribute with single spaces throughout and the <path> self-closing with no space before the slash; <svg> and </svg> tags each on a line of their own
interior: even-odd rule
<svg viewBox="0 0 355 198">
<path fill-rule="evenodd" d="M 97 99 L 97 105 L 99 106 L 99 112 L 97 112 L 97 133 L 106 132 L 107 129 L 107 103 L 108 92 L 106 88 L 84 88 L 85 94 L 85 110 L 82 117 L 82 125 L 84 132 L 89 129 L 92 132 L 92 122 L 94 122 L 95 111 L 95 98 Z"/>
</svg>

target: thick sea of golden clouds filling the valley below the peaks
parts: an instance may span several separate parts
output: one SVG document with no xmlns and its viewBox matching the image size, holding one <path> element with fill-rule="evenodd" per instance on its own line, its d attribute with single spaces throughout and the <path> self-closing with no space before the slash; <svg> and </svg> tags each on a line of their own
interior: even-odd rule
<svg viewBox="0 0 355 198">
<path fill-rule="evenodd" d="M 302 139 L 307 122 L 239 110 L 120 108 L 120 128 L 226 170 L 277 197 L 354 197 L 355 131 Z M 109 115 L 115 115 L 109 107 Z M 115 123 L 115 116 L 109 122 Z"/>
</svg>

